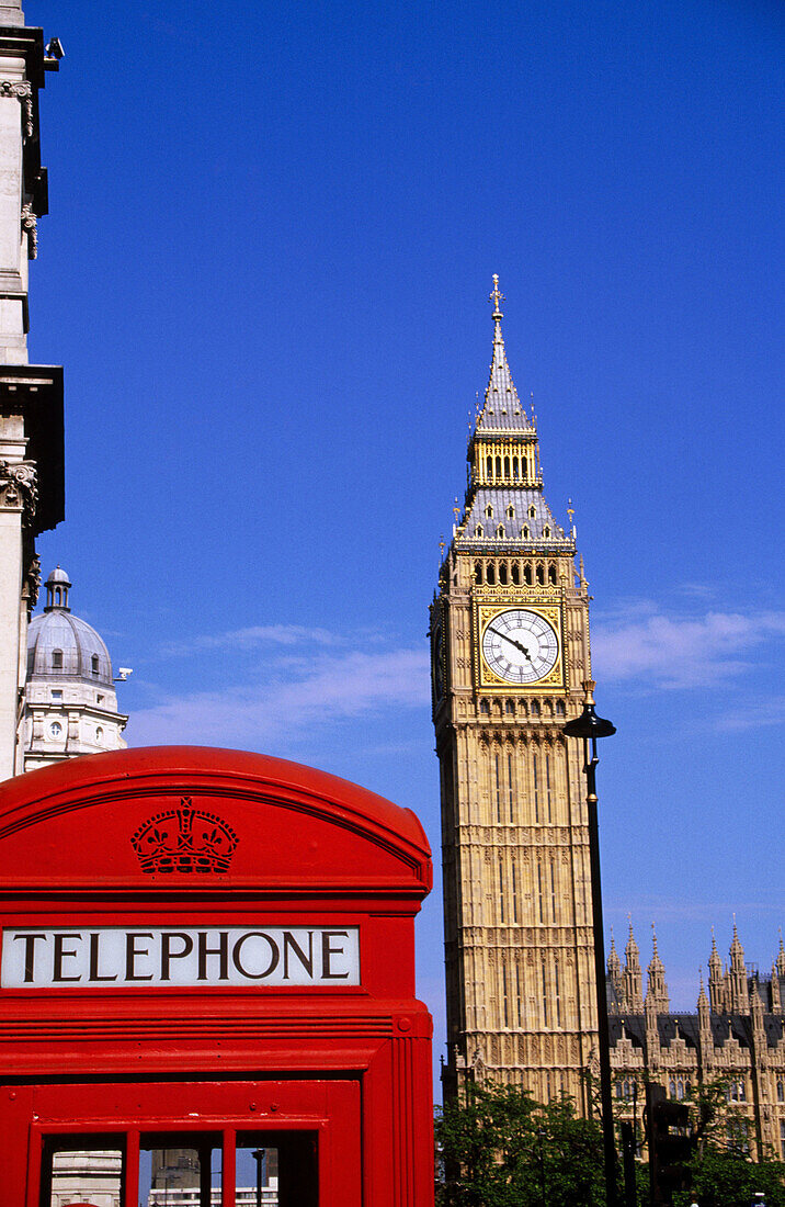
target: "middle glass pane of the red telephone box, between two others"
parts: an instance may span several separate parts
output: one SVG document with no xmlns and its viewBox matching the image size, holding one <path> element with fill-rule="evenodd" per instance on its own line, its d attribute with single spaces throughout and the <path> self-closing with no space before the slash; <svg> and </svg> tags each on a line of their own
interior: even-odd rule
<svg viewBox="0 0 785 1207">
<path fill-rule="evenodd" d="M 139 1207 L 221 1207 L 221 1142 L 193 1132 L 141 1136 Z"/>
</svg>

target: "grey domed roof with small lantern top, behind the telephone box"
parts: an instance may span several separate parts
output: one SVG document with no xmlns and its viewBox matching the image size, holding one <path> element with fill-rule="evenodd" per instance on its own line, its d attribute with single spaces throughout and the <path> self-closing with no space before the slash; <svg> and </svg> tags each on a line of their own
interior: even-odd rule
<svg viewBox="0 0 785 1207">
<path fill-rule="evenodd" d="M 34 616 L 28 626 L 28 680 L 80 678 L 111 687 L 112 663 L 102 637 L 68 606 L 69 576 L 58 566 L 46 585 L 43 616 Z"/>
</svg>

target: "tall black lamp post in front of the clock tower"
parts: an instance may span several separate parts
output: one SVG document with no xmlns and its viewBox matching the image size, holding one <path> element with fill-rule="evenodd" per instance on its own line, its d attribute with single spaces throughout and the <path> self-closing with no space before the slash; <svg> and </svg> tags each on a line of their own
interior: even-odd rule
<svg viewBox="0 0 785 1207">
<path fill-rule="evenodd" d="M 608 1207 L 616 1207 L 616 1142 L 610 1084 L 610 1036 L 608 1031 L 608 997 L 605 993 L 605 941 L 603 939 L 603 900 L 599 879 L 599 828 L 597 824 L 597 739 L 610 737 L 616 727 L 594 712 L 594 682 L 584 683 L 586 699 L 580 717 L 562 725 L 568 737 L 584 739 L 584 771 L 586 772 L 586 807 L 588 811 L 588 863 L 592 890 L 592 927 L 594 931 L 594 981 L 597 984 L 597 1039 L 599 1043 L 599 1098 L 602 1103 L 603 1154 Z"/>
</svg>

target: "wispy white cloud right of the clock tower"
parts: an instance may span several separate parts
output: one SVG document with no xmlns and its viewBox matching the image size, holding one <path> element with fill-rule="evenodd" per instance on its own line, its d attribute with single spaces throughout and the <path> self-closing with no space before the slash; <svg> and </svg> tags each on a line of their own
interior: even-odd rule
<svg viewBox="0 0 785 1207">
<path fill-rule="evenodd" d="M 785 636 L 785 612 L 669 616 L 635 602 L 593 626 L 592 666 L 605 681 L 637 678 L 660 688 L 705 687 L 755 665 Z"/>
</svg>

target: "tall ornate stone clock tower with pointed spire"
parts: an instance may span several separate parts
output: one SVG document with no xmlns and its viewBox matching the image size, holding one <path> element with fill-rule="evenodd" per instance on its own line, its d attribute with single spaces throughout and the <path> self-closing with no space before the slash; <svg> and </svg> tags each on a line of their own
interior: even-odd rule
<svg viewBox="0 0 785 1207">
<path fill-rule="evenodd" d="M 596 1059 L 588 829 L 578 742 L 588 593 L 543 494 L 537 426 L 502 336 L 468 485 L 430 610 L 441 771 L 447 1085 L 564 1092 L 586 1113 Z M 572 518 L 572 513 L 570 513 Z"/>
</svg>

